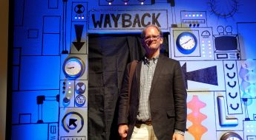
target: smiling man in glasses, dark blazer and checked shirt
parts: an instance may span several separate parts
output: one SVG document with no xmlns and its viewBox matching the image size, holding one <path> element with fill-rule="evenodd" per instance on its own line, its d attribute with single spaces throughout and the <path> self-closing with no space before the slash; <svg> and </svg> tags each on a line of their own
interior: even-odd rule
<svg viewBox="0 0 256 140">
<path fill-rule="evenodd" d="M 180 63 L 160 55 L 162 43 L 163 33 L 157 26 L 149 25 L 142 31 L 146 54 L 134 71 L 130 97 L 131 63 L 126 68 L 119 95 L 118 131 L 122 139 L 184 139 L 186 87 Z"/>
</svg>

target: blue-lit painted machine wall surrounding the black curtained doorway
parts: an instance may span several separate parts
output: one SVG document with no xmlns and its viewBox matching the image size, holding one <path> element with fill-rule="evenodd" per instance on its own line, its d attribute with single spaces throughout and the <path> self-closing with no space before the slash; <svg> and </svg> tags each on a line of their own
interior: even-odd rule
<svg viewBox="0 0 256 140">
<path fill-rule="evenodd" d="M 170 33 L 169 57 L 183 67 L 186 139 L 220 139 L 228 132 L 256 139 L 256 2 L 142 1 L 15 1 L 13 139 L 88 139 L 88 34 L 138 33 L 142 22 Z M 101 14 L 105 26 L 97 27 Z M 124 27 L 128 15 L 134 26 Z M 194 51 L 178 49 L 183 32 L 197 40 Z M 82 60 L 75 78 L 63 71 L 70 57 Z"/>
</svg>

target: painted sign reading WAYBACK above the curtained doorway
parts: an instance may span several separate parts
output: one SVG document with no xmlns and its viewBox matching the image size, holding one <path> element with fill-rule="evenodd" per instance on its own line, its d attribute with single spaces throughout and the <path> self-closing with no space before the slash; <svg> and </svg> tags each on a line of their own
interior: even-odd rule
<svg viewBox="0 0 256 140">
<path fill-rule="evenodd" d="M 167 10 L 90 11 L 89 30 L 144 29 L 155 24 L 168 29 Z"/>
</svg>

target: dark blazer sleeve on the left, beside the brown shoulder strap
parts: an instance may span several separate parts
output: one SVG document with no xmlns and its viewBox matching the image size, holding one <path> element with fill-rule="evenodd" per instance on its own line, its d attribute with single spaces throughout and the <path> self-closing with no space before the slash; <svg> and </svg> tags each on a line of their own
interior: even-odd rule
<svg viewBox="0 0 256 140">
<path fill-rule="evenodd" d="M 119 94 L 119 109 L 118 109 L 118 125 L 128 124 L 128 82 L 131 63 L 128 63 L 125 69 L 125 75 L 122 80 L 122 87 Z"/>
</svg>

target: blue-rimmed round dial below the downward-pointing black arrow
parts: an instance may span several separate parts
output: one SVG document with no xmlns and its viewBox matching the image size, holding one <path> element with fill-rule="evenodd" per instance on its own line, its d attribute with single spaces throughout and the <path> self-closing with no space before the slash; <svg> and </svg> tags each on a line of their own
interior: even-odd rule
<svg viewBox="0 0 256 140">
<path fill-rule="evenodd" d="M 69 57 L 63 63 L 63 71 L 69 78 L 77 78 L 84 72 L 85 64 L 78 57 Z"/>
</svg>

